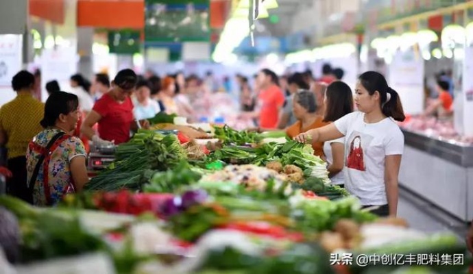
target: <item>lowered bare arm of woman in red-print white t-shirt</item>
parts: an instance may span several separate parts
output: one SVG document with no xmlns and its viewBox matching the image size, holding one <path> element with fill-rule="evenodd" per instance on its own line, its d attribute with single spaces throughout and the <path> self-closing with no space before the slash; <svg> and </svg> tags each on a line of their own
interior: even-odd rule
<svg viewBox="0 0 473 274">
<path fill-rule="evenodd" d="M 398 212 L 398 175 L 402 155 L 387 155 L 385 158 L 385 186 L 389 215 L 396 216 Z"/>
</svg>

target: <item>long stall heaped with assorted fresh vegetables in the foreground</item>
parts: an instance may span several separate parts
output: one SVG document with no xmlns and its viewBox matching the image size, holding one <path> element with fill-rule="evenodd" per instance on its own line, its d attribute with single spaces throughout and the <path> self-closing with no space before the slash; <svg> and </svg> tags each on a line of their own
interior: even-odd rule
<svg viewBox="0 0 473 274">
<path fill-rule="evenodd" d="M 85 192 L 64 197 L 55 208 L 0 197 L 1 227 L 11 228 L 0 233 L 6 259 L 0 258 L 11 263 L 0 264 L 0 272 L 368 274 L 468 268 L 465 245 L 456 236 L 424 234 L 402 219 L 361 210 L 356 197 L 330 184 L 326 164 L 311 146 L 284 133 L 228 126 L 206 132 L 187 125 L 176 135 L 162 132 L 163 123 L 152 127 L 119 145 L 112 164 Z M 192 130 L 206 136 L 182 133 Z"/>
</svg>

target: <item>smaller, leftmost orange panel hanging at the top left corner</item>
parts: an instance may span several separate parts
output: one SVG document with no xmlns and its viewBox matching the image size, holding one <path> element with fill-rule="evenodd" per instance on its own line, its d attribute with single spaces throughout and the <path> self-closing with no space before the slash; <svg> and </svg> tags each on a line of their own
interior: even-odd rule
<svg viewBox="0 0 473 274">
<path fill-rule="evenodd" d="M 64 0 L 29 0 L 29 15 L 62 25 L 65 18 Z"/>
</svg>

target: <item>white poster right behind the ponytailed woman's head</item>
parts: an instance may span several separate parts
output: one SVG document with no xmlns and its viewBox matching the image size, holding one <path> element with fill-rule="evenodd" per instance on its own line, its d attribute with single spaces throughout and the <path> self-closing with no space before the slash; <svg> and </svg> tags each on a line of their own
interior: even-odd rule
<svg viewBox="0 0 473 274">
<path fill-rule="evenodd" d="M 389 64 L 389 86 L 396 90 L 406 114 L 424 112 L 424 59 L 413 50 L 398 51 Z"/>
</svg>

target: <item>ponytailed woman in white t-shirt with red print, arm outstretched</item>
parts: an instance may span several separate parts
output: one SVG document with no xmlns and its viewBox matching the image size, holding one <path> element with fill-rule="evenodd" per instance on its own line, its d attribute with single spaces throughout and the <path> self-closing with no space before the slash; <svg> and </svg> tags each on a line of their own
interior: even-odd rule
<svg viewBox="0 0 473 274">
<path fill-rule="evenodd" d="M 359 112 L 295 140 L 324 142 L 345 136 L 345 188 L 364 208 L 376 206 L 375 214 L 396 216 L 404 135 L 393 120 L 404 121 L 402 104 L 385 77 L 374 71 L 360 75 L 355 92 Z"/>
</svg>

